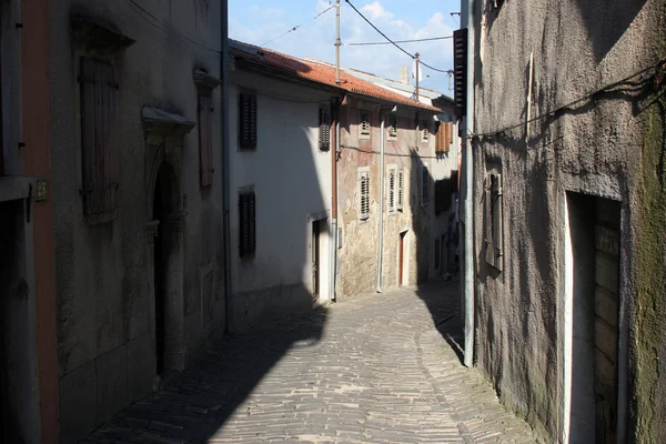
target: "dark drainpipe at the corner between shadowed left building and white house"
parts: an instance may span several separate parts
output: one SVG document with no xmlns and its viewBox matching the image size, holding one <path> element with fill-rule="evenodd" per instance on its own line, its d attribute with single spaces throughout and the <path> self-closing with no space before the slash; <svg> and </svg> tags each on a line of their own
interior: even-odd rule
<svg viewBox="0 0 666 444">
<path fill-rule="evenodd" d="M 222 75 L 222 250 L 224 266 L 224 333 L 233 332 L 232 302 L 231 302 L 231 228 L 229 225 L 230 213 L 230 178 L 229 178 L 229 23 L 226 1 L 220 4 L 220 21 L 222 29 L 222 54 L 220 57 L 220 74 Z"/>
</svg>

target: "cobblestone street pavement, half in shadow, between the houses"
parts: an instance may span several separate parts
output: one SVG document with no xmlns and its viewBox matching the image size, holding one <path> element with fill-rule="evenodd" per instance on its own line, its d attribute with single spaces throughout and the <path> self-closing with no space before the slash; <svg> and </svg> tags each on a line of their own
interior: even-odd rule
<svg viewBox="0 0 666 444">
<path fill-rule="evenodd" d="M 458 283 L 228 337 L 84 443 L 534 443 L 456 354 Z"/>
</svg>

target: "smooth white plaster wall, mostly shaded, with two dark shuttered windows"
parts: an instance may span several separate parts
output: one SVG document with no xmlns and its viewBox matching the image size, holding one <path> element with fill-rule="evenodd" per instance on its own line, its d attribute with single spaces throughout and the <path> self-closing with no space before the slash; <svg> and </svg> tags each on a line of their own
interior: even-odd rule
<svg viewBox="0 0 666 444">
<path fill-rule="evenodd" d="M 230 81 L 232 310 L 233 329 L 244 330 L 329 299 L 327 235 L 320 256 L 326 279 L 313 296 L 312 222 L 331 218 L 331 152 L 319 149 L 319 110 L 334 94 L 240 68 Z M 241 91 L 256 93 L 255 150 L 239 149 Z M 246 188 L 256 199 L 256 251 L 241 259 L 238 200 Z"/>
</svg>

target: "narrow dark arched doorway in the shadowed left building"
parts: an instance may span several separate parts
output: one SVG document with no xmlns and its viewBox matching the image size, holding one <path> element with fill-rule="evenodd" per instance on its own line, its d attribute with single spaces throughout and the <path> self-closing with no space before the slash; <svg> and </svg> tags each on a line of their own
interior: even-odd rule
<svg viewBox="0 0 666 444">
<path fill-rule="evenodd" d="M 167 319 L 167 279 L 169 258 L 169 236 L 167 230 L 167 215 L 171 210 L 172 188 L 169 167 L 163 164 L 158 173 L 153 196 L 153 220 L 159 221 L 153 251 L 154 296 L 155 296 L 155 362 L 157 373 L 164 369 L 165 352 L 165 319 Z"/>
</svg>

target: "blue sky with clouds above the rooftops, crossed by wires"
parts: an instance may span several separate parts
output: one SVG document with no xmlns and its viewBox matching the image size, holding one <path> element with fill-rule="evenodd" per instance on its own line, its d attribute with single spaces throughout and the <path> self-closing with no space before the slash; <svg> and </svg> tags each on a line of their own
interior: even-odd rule
<svg viewBox="0 0 666 444">
<path fill-rule="evenodd" d="M 393 40 L 422 39 L 451 36 L 460 26 L 460 0 L 352 0 L 352 3 L 382 32 Z M 361 19 L 350 6 L 341 1 L 341 39 L 344 43 L 383 41 L 375 30 Z M 248 43 L 265 46 L 295 57 L 313 57 L 327 62 L 335 61 L 335 9 L 312 18 L 329 8 L 329 0 L 230 0 L 229 36 Z M 302 24 L 269 44 L 270 40 L 289 29 Z M 407 52 L 418 52 L 421 59 L 438 69 L 453 69 L 452 40 L 403 43 Z M 392 46 L 341 48 L 341 64 L 377 75 L 398 79 L 400 67 L 413 61 Z M 452 95 L 451 81 L 445 73 L 424 69 L 430 75 L 422 85 Z"/>
</svg>

